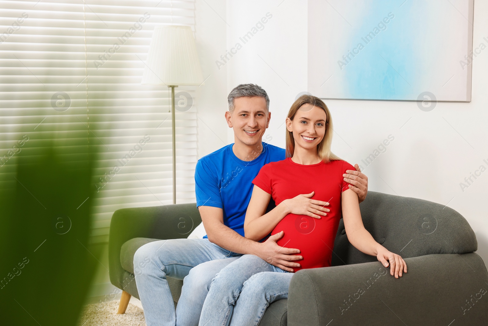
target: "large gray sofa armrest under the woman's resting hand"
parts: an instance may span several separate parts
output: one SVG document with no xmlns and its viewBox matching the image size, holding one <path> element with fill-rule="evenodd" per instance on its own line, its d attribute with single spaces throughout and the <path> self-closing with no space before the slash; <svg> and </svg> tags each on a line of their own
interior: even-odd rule
<svg viewBox="0 0 488 326">
<path fill-rule="evenodd" d="M 288 292 L 288 325 L 486 323 L 488 273 L 478 254 L 405 261 L 408 272 L 399 279 L 379 261 L 298 271 Z"/>
</svg>

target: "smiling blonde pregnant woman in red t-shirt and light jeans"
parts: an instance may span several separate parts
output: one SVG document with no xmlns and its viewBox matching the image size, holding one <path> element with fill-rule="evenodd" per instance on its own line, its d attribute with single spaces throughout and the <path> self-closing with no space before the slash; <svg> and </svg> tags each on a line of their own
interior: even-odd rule
<svg viewBox="0 0 488 326">
<path fill-rule="evenodd" d="M 395 278 L 407 273 L 402 257 L 376 242 L 364 228 L 358 196 L 343 177 L 346 170 L 355 169 L 330 152 L 333 127 L 325 103 L 302 95 L 288 112 L 286 129 L 286 159 L 264 165 L 252 181 L 245 237 L 259 241 L 271 233 L 280 246 L 299 248 L 302 259 L 296 261 L 295 272 L 328 267 L 343 217 L 347 239 L 354 247 L 389 265 Z M 271 198 L 276 207 L 266 213 Z M 258 325 L 270 303 L 288 296 L 293 273 L 281 267 L 254 255 L 228 264 L 211 283 L 199 325 Z"/>
</svg>

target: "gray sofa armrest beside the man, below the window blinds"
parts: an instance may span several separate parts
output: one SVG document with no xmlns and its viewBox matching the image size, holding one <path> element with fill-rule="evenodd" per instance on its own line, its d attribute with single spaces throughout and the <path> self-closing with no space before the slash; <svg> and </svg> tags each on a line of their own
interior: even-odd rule
<svg viewBox="0 0 488 326">
<path fill-rule="evenodd" d="M 202 221 L 196 203 L 124 208 L 114 212 L 108 238 L 110 282 L 123 279 L 122 244 L 133 238 L 186 238 Z"/>
</svg>

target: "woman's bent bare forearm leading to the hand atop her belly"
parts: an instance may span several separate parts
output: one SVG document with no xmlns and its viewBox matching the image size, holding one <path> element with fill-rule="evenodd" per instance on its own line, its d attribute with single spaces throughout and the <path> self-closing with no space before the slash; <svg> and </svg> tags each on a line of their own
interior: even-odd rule
<svg viewBox="0 0 488 326">
<path fill-rule="evenodd" d="M 275 226 L 289 214 L 289 208 L 286 206 L 285 201 L 282 201 L 278 206 L 273 208 L 268 213 L 261 217 L 257 217 L 244 223 L 244 236 L 247 239 L 259 241 L 267 236 Z"/>
</svg>

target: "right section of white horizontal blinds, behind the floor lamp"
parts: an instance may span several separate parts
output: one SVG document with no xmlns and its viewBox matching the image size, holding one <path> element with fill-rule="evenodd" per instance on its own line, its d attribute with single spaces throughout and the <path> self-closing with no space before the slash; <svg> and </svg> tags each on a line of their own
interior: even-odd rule
<svg viewBox="0 0 488 326">
<path fill-rule="evenodd" d="M 106 241 L 110 218 L 119 208 L 172 203 L 171 93 L 165 86 L 141 85 L 141 78 L 154 26 L 194 27 L 194 3 L 162 1 L 156 7 L 158 2 L 86 1 L 88 121 L 104 143 L 95 241 Z M 177 110 L 176 135 L 177 202 L 193 202 L 195 107 Z"/>
</svg>

